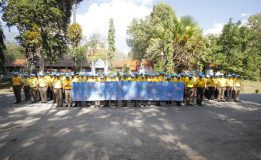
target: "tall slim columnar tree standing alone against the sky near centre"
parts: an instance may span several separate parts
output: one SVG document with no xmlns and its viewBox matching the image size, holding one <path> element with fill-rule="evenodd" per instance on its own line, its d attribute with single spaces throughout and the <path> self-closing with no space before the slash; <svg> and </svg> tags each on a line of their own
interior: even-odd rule
<svg viewBox="0 0 261 160">
<path fill-rule="evenodd" d="M 115 57 L 115 27 L 113 24 L 113 19 L 110 19 L 109 22 L 109 31 L 108 31 L 108 58 L 109 58 L 109 68 L 114 71 L 115 64 L 114 64 L 114 57 Z"/>
</svg>

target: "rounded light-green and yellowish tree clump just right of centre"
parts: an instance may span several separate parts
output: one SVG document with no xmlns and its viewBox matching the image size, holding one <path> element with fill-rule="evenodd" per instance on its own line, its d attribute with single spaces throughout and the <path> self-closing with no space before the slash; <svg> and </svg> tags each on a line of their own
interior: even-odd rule
<svg viewBox="0 0 261 160">
<path fill-rule="evenodd" d="M 155 5 L 144 20 L 134 19 L 127 33 L 132 58 L 152 60 L 157 71 L 192 68 L 206 48 L 194 19 L 186 16 L 178 20 L 172 7 L 164 3 Z"/>
</svg>

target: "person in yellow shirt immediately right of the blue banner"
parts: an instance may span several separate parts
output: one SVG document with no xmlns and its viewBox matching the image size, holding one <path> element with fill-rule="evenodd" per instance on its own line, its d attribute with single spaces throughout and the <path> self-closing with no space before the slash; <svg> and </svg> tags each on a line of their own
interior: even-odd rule
<svg viewBox="0 0 261 160">
<path fill-rule="evenodd" d="M 194 86 L 195 82 L 192 79 L 192 75 L 188 76 L 188 80 L 185 82 L 185 88 L 186 88 L 186 103 L 187 105 L 192 105 L 193 102 L 193 94 L 194 94 Z"/>
</svg>

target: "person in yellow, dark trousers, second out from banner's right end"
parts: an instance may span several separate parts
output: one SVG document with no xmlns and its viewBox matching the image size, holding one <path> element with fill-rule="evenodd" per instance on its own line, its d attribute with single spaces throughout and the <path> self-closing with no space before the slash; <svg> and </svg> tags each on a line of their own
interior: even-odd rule
<svg viewBox="0 0 261 160">
<path fill-rule="evenodd" d="M 197 88 L 197 105 L 202 106 L 204 90 L 206 88 L 206 81 L 202 78 L 203 75 L 199 74 L 199 78 L 197 78 L 195 87 Z"/>
</svg>

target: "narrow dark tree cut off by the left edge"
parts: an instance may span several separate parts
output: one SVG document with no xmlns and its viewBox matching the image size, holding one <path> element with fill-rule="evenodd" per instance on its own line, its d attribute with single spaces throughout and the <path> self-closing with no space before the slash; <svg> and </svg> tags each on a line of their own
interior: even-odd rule
<svg viewBox="0 0 261 160">
<path fill-rule="evenodd" d="M 0 24 L 0 68 L 3 74 L 6 74 L 5 69 L 5 43 L 4 43 L 5 35 L 2 29 L 2 25 Z"/>
</svg>

